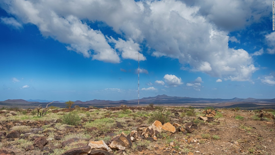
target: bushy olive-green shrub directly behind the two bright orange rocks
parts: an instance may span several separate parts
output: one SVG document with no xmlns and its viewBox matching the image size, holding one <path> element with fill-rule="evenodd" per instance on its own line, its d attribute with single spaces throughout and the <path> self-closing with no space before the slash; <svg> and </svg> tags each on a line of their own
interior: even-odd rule
<svg viewBox="0 0 275 155">
<path fill-rule="evenodd" d="M 158 120 L 162 124 L 165 124 L 170 121 L 169 115 L 171 114 L 170 111 L 154 111 L 151 116 L 149 116 L 149 123 L 153 123 L 154 121 Z"/>
</svg>

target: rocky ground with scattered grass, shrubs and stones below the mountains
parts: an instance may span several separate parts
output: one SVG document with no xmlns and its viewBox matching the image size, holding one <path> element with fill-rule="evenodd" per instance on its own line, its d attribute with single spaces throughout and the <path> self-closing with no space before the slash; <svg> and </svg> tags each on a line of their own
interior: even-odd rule
<svg viewBox="0 0 275 155">
<path fill-rule="evenodd" d="M 0 155 L 275 155 L 274 110 L 114 107 L 0 110 Z"/>
</svg>

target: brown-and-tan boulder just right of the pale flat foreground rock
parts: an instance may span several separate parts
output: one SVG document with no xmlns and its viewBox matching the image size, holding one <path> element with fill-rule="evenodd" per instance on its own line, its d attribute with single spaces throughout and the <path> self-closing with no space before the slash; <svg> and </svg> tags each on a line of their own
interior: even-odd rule
<svg viewBox="0 0 275 155">
<path fill-rule="evenodd" d="M 126 148 L 131 148 L 132 142 L 126 136 L 121 135 L 118 139 L 111 142 L 110 148 L 125 150 Z"/>
</svg>

